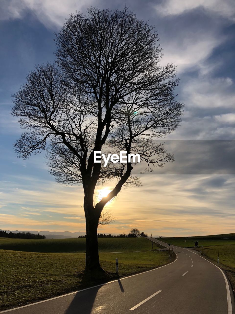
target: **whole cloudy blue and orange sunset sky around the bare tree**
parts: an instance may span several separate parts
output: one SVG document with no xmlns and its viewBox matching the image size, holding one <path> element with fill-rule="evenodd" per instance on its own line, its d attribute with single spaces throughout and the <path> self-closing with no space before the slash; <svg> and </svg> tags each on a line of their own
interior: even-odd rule
<svg viewBox="0 0 235 314">
<path fill-rule="evenodd" d="M 54 61 L 54 33 L 69 14 L 125 4 L 155 25 L 161 64 L 177 65 L 177 100 L 185 112 L 181 126 L 164 139 L 175 162 L 141 175 L 141 187 L 123 189 L 107 205 L 115 221 L 98 232 L 128 233 L 133 227 L 153 236 L 235 232 L 234 0 L 1 0 L 0 229 L 85 231 L 82 187 L 56 183 L 43 154 L 16 157 L 13 143 L 22 130 L 9 114 L 11 95 L 35 64 Z"/>
</svg>

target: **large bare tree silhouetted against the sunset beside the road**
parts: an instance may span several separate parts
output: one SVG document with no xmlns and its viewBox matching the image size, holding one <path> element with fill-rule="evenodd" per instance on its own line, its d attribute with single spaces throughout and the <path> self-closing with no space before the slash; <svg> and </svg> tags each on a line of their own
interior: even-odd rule
<svg viewBox="0 0 235 314">
<path fill-rule="evenodd" d="M 86 217 L 86 271 L 103 271 L 97 226 L 104 206 L 128 184 L 135 163 L 94 163 L 94 151 L 140 154 L 145 171 L 174 160 L 161 138 L 179 126 L 175 65 L 159 64 L 154 27 L 133 12 L 88 9 L 56 34 L 56 65 L 36 66 L 13 96 L 13 115 L 27 129 L 14 144 L 18 156 L 47 150 L 50 173 L 60 183 L 82 184 Z M 99 184 L 112 192 L 93 204 Z"/>
</svg>

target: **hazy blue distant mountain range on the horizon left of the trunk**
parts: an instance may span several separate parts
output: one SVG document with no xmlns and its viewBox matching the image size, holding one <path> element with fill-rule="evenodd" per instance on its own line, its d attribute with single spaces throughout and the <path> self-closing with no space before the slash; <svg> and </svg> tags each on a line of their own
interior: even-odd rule
<svg viewBox="0 0 235 314">
<path fill-rule="evenodd" d="M 2 229 L 0 229 L 2 230 Z M 68 238 L 77 238 L 78 236 L 83 236 L 86 234 L 86 231 L 76 231 L 76 232 L 70 232 L 70 231 L 35 231 L 35 230 L 29 230 L 29 231 L 22 231 L 22 230 L 3 230 L 7 233 L 14 232 L 30 232 L 33 234 L 38 234 L 42 236 L 46 236 L 46 239 L 68 239 Z"/>
</svg>

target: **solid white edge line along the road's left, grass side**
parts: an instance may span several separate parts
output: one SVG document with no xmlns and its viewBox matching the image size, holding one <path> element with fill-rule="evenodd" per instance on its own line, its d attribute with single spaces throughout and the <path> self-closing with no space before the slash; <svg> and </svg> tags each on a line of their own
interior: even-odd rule
<svg viewBox="0 0 235 314">
<path fill-rule="evenodd" d="M 150 270 L 147 270 L 146 272 L 143 272 L 143 273 L 138 273 L 138 274 L 135 274 L 135 275 L 131 275 L 131 276 L 128 276 L 128 277 L 123 277 L 123 278 L 120 278 L 120 279 L 117 279 L 117 280 L 112 280 L 112 281 L 109 281 L 109 282 L 106 282 L 104 284 L 97 284 L 97 286 L 93 286 L 93 287 L 89 287 L 89 288 L 86 288 L 86 289 L 82 289 L 82 290 L 78 290 L 78 291 L 74 291 L 74 292 L 70 292 L 70 293 L 67 293 L 65 295 L 59 295 L 59 296 L 55 296 L 54 298 L 50 298 L 50 299 L 47 299 L 47 300 L 43 300 L 43 301 L 39 301 L 39 302 L 34 302 L 34 303 L 31 303 L 31 304 L 27 304 L 27 305 L 23 305 L 23 306 L 19 306 L 19 307 L 14 307 L 13 309 L 9 309 L 9 310 L 5 310 L 5 311 L 1 311 L 0 313 L 6 313 L 6 312 L 10 312 L 10 311 L 14 311 L 14 310 L 18 310 L 18 309 L 22 309 L 24 307 L 27 307 L 27 306 L 31 306 L 31 305 L 35 305 L 35 304 L 39 304 L 39 303 L 43 303 L 43 302 L 47 302 L 47 301 L 50 301 L 50 300 L 54 300 L 54 299 L 58 299 L 58 298 L 62 298 L 64 296 L 67 296 L 67 295 L 72 295 L 72 294 L 75 294 L 75 293 L 78 293 L 78 292 L 81 292 L 81 291 L 85 291 L 85 290 L 89 290 L 89 289 L 92 289 L 92 288 L 96 288 L 96 287 L 101 287 L 101 286 L 104 286 L 106 284 L 111 284 L 112 282 L 115 282 L 115 281 L 119 281 L 119 280 L 123 280 L 123 279 L 127 279 L 127 278 L 130 278 L 130 277 L 134 277 L 134 276 L 138 276 L 138 275 L 142 275 L 144 273 L 149 273 L 149 272 L 152 272 L 153 270 L 156 270 L 156 269 L 159 269 L 159 268 L 162 268 L 162 267 L 165 267 L 165 266 L 168 266 L 170 264 L 173 264 L 177 261 L 178 259 L 178 255 L 176 254 L 175 251 L 173 251 L 176 255 L 176 259 L 169 263 L 169 264 L 166 264 L 166 265 L 163 265 L 163 266 L 160 266 L 160 267 L 157 267 L 157 268 L 154 268 L 154 269 L 150 269 Z"/>
</svg>

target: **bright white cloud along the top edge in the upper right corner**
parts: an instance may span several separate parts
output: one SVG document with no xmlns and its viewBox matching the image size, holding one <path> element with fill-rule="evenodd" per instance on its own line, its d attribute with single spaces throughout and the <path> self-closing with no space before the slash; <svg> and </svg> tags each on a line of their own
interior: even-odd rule
<svg viewBox="0 0 235 314">
<path fill-rule="evenodd" d="M 224 18 L 235 20 L 235 3 L 233 0 L 164 0 L 154 7 L 163 16 L 179 15 L 202 7 Z"/>
</svg>

